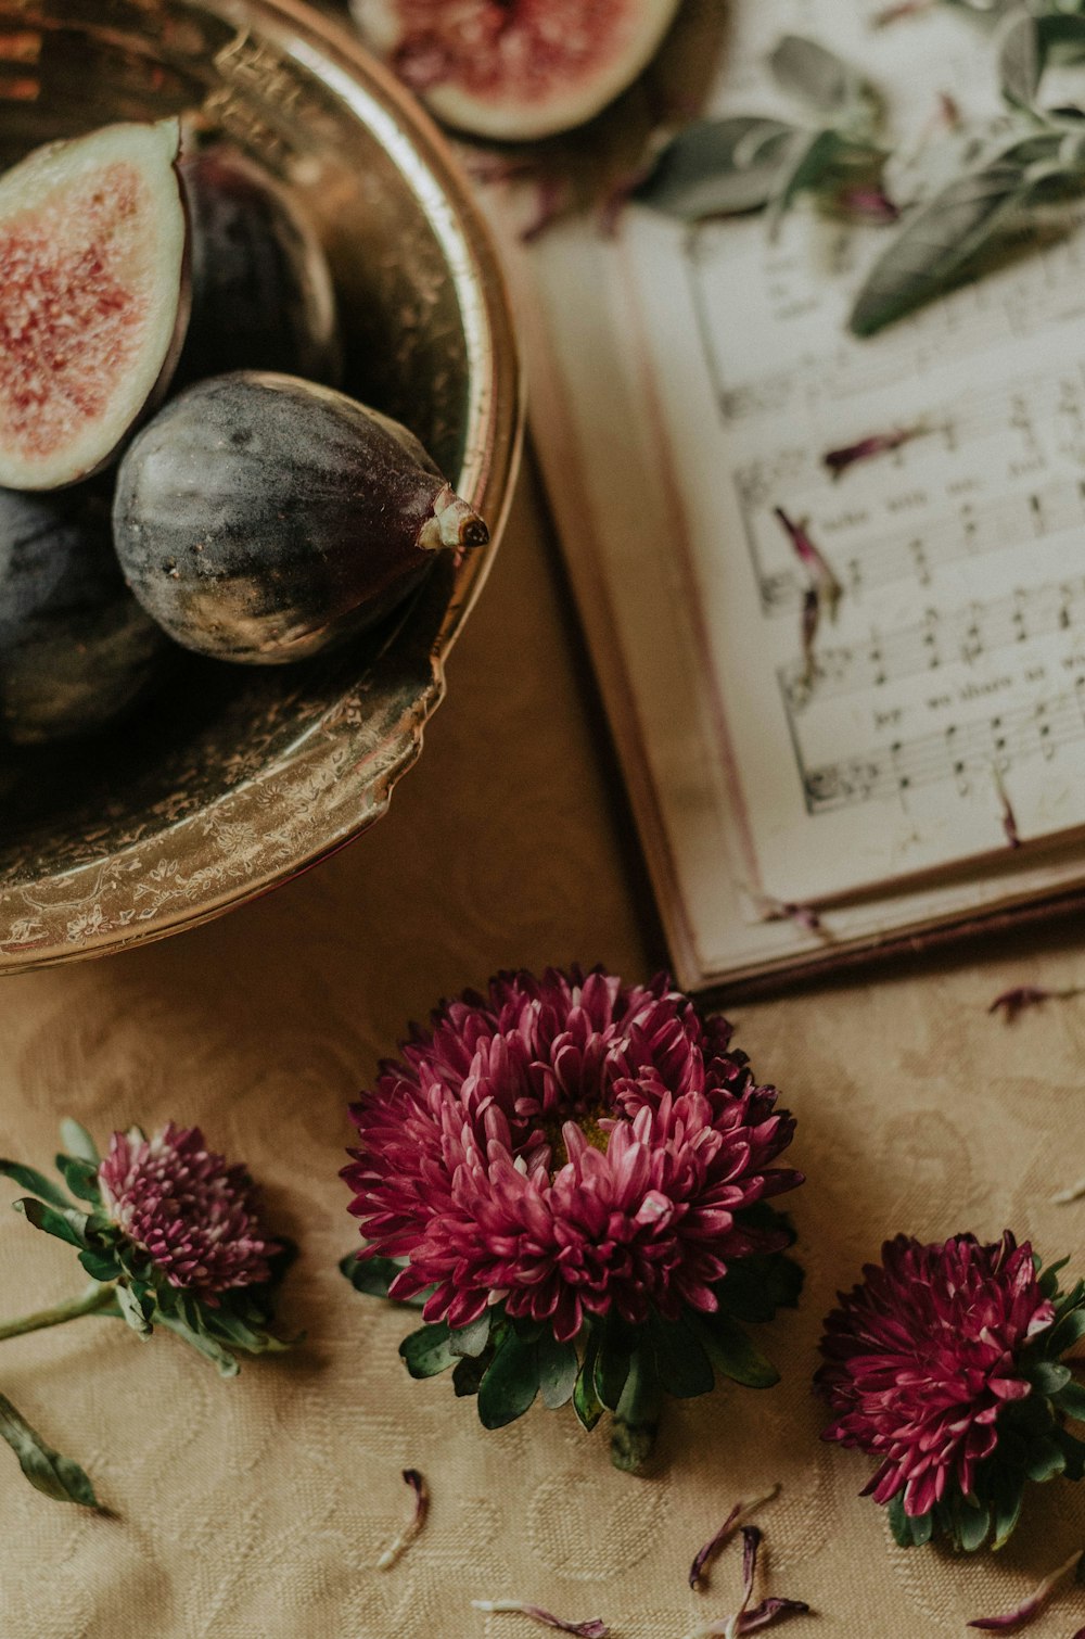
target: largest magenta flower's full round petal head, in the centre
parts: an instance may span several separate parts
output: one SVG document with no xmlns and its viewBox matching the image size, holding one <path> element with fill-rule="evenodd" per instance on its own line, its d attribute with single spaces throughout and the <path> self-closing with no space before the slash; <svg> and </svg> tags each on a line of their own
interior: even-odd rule
<svg viewBox="0 0 1085 1639">
<path fill-rule="evenodd" d="M 441 1006 L 351 1111 L 351 1211 L 408 1260 L 390 1296 L 433 1285 L 424 1319 L 454 1328 L 503 1301 L 559 1341 L 611 1310 L 715 1311 L 734 1259 L 788 1244 L 738 1214 L 801 1182 L 772 1165 L 792 1116 L 729 1039 L 665 977 L 502 974 Z"/>
</svg>

